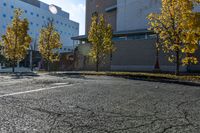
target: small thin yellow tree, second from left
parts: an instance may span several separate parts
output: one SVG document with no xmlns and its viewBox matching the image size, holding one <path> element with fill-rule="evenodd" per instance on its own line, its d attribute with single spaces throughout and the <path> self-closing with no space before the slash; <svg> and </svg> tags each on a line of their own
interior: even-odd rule
<svg viewBox="0 0 200 133">
<path fill-rule="evenodd" d="M 48 71 L 50 71 L 50 63 L 59 61 L 58 49 L 62 47 L 60 34 L 56 31 L 53 20 L 41 29 L 39 37 L 39 52 L 43 59 L 47 61 Z"/>
</svg>

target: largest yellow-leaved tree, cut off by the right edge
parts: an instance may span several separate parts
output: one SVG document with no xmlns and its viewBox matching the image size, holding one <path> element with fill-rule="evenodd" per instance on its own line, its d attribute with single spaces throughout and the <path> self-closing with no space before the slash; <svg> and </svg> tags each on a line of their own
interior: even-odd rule
<svg viewBox="0 0 200 133">
<path fill-rule="evenodd" d="M 198 63 L 194 53 L 200 38 L 199 13 L 193 12 L 193 8 L 193 0 L 162 0 L 161 13 L 148 16 L 150 30 L 159 35 L 169 61 L 176 63 L 177 75 L 180 64 Z"/>
</svg>

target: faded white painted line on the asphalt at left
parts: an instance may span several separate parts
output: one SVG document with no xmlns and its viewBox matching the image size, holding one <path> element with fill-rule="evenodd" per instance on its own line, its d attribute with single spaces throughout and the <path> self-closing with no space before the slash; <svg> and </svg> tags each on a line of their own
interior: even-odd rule
<svg viewBox="0 0 200 133">
<path fill-rule="evenodd" d="M 52 89 L 56 89 L 56 88 L 69 87 L 72 85 L 73 84 L 67 84 L 67 85 L 62 85 L 62 86 L 45 87 L 45 88 L 40 88 L 40 89 L 35 89 L 35 90 L 30 90 L 30 91 L 15 92 L 15 93 L 10 93 L 10 94 L 0 95 L 0 98 L 8 97 L 8 96 L 15 96 L 15 95 L 22 95 L 22 94 L 27 94 L 27 93 L 34 93 L 34 92 L 45 91 L 45 90 L 52 90 Z"/>
</svg>

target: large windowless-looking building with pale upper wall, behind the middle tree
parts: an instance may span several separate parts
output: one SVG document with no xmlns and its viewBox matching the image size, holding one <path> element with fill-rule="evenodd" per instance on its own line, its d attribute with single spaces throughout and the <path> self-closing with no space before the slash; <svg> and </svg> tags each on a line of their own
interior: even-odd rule
<svg viewBox="0 0 200 133">
<path fill-rule="evenodd" d="M 175 70 L 175 65 L 169 63 L 162 52 L 159 52 L 157 58 L 157 37 L 148 30 L 148 14 L 160 12 L 160 8 L 161 0 L 86 0 L 86 35 L 73 37 L 80 42 L 77 69 L 95 68 L 87 54 L 82 51 L 88 51 L 90 47 L 87 35 L 91 17 L 98 13 L 104 14 L 106 22 L 113 26 L 113 41 L 117 48 L 111 58 L 102 64 L 102 70 L 153 71 L 158 66 L 157 59 L 162 71 Z M 199 65 L 191 68 L 200 70 Z M 182 71 L 187 69 L 188 67 L 181 67 Z"/>
</svg>

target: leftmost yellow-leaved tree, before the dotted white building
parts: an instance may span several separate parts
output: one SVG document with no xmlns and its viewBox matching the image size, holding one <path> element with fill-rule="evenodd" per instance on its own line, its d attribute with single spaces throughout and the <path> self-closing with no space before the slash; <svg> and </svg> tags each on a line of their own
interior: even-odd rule
<svg viewBox="0 0 200 133">
<path fill-rule="evenodd" d="M 16 63 L 25 58 L 31 43 L 31 37 L 28 35 L 28 20 L 20 19 L 23 13 L 21 9 L 16 9 L 14 13 L 12 23 L 7 27 L 1 42 L 2 52 L 5 58 L 12 62 L 13 72 Z"/>
</svg>

